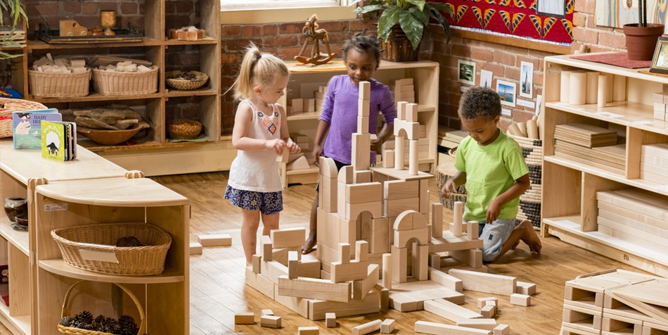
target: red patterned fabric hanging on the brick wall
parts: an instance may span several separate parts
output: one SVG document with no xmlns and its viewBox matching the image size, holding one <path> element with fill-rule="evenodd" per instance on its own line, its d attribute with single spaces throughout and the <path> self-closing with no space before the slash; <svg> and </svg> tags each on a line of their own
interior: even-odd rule
<svg viewBox="0 0 668 335">
<path fill-rule="evenodd" d="M 565 18 L 553 18 L 536 13 L 537 0 L 435 0 L 451 6 L 454 26 L 570 44 L 574 0 L 566 1 Z"/>
</svg>

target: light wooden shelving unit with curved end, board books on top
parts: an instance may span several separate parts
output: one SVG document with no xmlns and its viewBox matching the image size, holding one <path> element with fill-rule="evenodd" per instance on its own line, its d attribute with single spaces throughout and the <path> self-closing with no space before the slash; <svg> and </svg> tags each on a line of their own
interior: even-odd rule
<svg viewBox="0 0 668 335">
<path fill-rule="evenodd" d="M 150 179 L 126 179 L 124 168 L 86 148 L 78 150 L 76 160 L 60 162 L 42 158 L 40 151 L 14 150 L 11 139 L 0 140 L 0 194 L 28 199 L 30 226 L 27 232 L 16 231 L 6 215 L 0 217 L 0 257 L 10 268 L 11 296 L 8 307 L 0 303 L 0 322 L 13 334 L 53 334 L 65 291 L 84 279 L 73 312 L 94 309 L 96 315 L 114 316 L 110 283 L 127 283 L 143 301 L 149 331 L 188 334 L 188 199 Z M 46 203 L 57 203 L 61 210 L 49 210 Z M 101 222 L 149 222 L 169 232 L 165 272 L 122 277 L 66 265 L 51 230 Z M 123 301 L 115 307 L 139 321 L 134 304 Z"/>
</svg>

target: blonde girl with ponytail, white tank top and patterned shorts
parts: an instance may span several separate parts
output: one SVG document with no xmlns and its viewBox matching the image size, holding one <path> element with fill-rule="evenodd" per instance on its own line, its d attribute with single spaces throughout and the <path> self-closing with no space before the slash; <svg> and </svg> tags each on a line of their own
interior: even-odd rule
<svg viewBox="0 0 668 335">
<path fill-rule="evenodd" d="M 285 108 L 276 103 L 285 94 L 288 79 L 288 68 L 280 58 L 251 44 L 232 87 L 240 101 L 232 130 L 232 145 L 238 153 L 230 168 L 225 198 L 241 208 L 246 265 L 252 263 L 255 253 L 260 218 L 262 234 L 278 229 L 283 187 L 276 155 L 285 150 L 300 152 L 290 139 Z"/>
</svg>

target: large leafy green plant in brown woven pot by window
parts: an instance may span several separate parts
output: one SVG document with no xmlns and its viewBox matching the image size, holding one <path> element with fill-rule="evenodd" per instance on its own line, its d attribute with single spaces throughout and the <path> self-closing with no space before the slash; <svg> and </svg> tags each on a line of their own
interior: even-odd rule
<svg viewBox="0 0 668 335">
<path fill-rule="evenodd" d="M 378 37 L 385 42 L 383 59 L 387 61 L 417 61 L 418 47 L 425 25 L 434 19 L 443 27 L 450 40 L 450 23 L 443 13 L 452 14 L 446 4 L 425 0 L 371 0 L 355 9 L 359 14 L 380 13 Z"/>
</svg>

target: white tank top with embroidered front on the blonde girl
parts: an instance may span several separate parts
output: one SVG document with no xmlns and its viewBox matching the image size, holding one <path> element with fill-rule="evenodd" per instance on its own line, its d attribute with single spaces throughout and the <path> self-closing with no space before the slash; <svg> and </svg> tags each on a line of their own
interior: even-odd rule
<svg viewBox="0 0 668 335">
<path fill-rule="evenodd" d="M 281 113 L 278 112 L 275 104 L 271 105 L 271 115 L 265 115 L 250 100 L 245 99 L 241 103 L 248 103 L 253 112 L 252 120 L 248 125 L 247 137 L 267 140 L 281 138 Z M 283 191 L 278 162 L 276 162 L 276 151 L 266 148 L 237 151 L 237 156 L 230 167 L 230 178 L 227 184 L 234 189 L 245 191 Z"/>
</svg>

